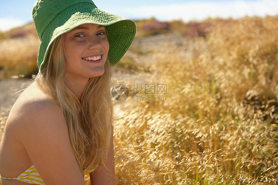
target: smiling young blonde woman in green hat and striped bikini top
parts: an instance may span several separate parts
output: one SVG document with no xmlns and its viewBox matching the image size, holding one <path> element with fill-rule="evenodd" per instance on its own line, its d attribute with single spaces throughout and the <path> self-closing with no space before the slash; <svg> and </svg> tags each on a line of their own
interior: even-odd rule
<svg viewBox="0 0 278 185">
<path fill-rule="evenodd" d="M 39 74 L 17 99 L 0 144 L 1 185 L 115 183 L 111 66 L 134 21 L 92 0 L 37 0 Z"/>
</svg>

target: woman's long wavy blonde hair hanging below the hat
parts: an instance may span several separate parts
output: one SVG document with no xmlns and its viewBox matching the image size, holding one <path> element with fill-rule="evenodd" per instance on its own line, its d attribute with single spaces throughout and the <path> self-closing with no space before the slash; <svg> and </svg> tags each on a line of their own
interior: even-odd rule
<svg viewBox="0 0 278 185">
<path fill-rule="evenodd" d="M 66 82 L 66 53 L 63 35 L 51 44 L 45 67 L 36 81 L 41 89 L 60 105 L 65 117 L 75 158 L 83 171 L 105 166 L 109 147 L 113 105 L 111 102 L 111 64 L 107 60 L 104 74 L 89 80 L 81 98 L 78 99 Z"/>
</svg>

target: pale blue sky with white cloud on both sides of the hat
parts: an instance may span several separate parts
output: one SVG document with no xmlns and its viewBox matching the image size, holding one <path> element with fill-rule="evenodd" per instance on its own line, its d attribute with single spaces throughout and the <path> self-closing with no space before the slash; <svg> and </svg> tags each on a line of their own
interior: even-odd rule
<svg viewBox="0 0 278 185">
<path fill-rule="evenodd" d="M 132 19 L 203 20 L 278 15 L 278 0 L 93 0 L 98 8 Z M 32 21 L 35 0 L 0 0 L 0 30 Z"/>
</svg>

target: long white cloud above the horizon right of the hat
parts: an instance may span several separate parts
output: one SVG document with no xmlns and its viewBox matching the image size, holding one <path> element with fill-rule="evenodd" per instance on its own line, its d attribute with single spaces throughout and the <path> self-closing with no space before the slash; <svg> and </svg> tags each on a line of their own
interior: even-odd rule
<svg viewBox="0 0 278 185">
<path fill-rule="evenodd" d="M 156 17 L 159 20 L 203 20 L 207 17 L 239 18 L 246 15 L 265 16 L 278 14 L 277 0 L 228 0 L 187 2 L 172 5 L 155 5 L 121 9 L 130 18 Z"/>
</svg>

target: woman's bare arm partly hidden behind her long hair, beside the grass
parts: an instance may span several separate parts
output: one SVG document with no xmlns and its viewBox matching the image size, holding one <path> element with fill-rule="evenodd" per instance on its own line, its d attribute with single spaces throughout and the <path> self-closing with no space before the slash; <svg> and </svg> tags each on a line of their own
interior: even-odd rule
<svg viewBox="0 0 278 185">
<path fill-rule="evenodd" d="M 91 185 L 115 185 L 115 162 L 113 145 L 113 126 L 111 127 L 110 146 L 105 167 L 90 174 Z"/>
</svg>

